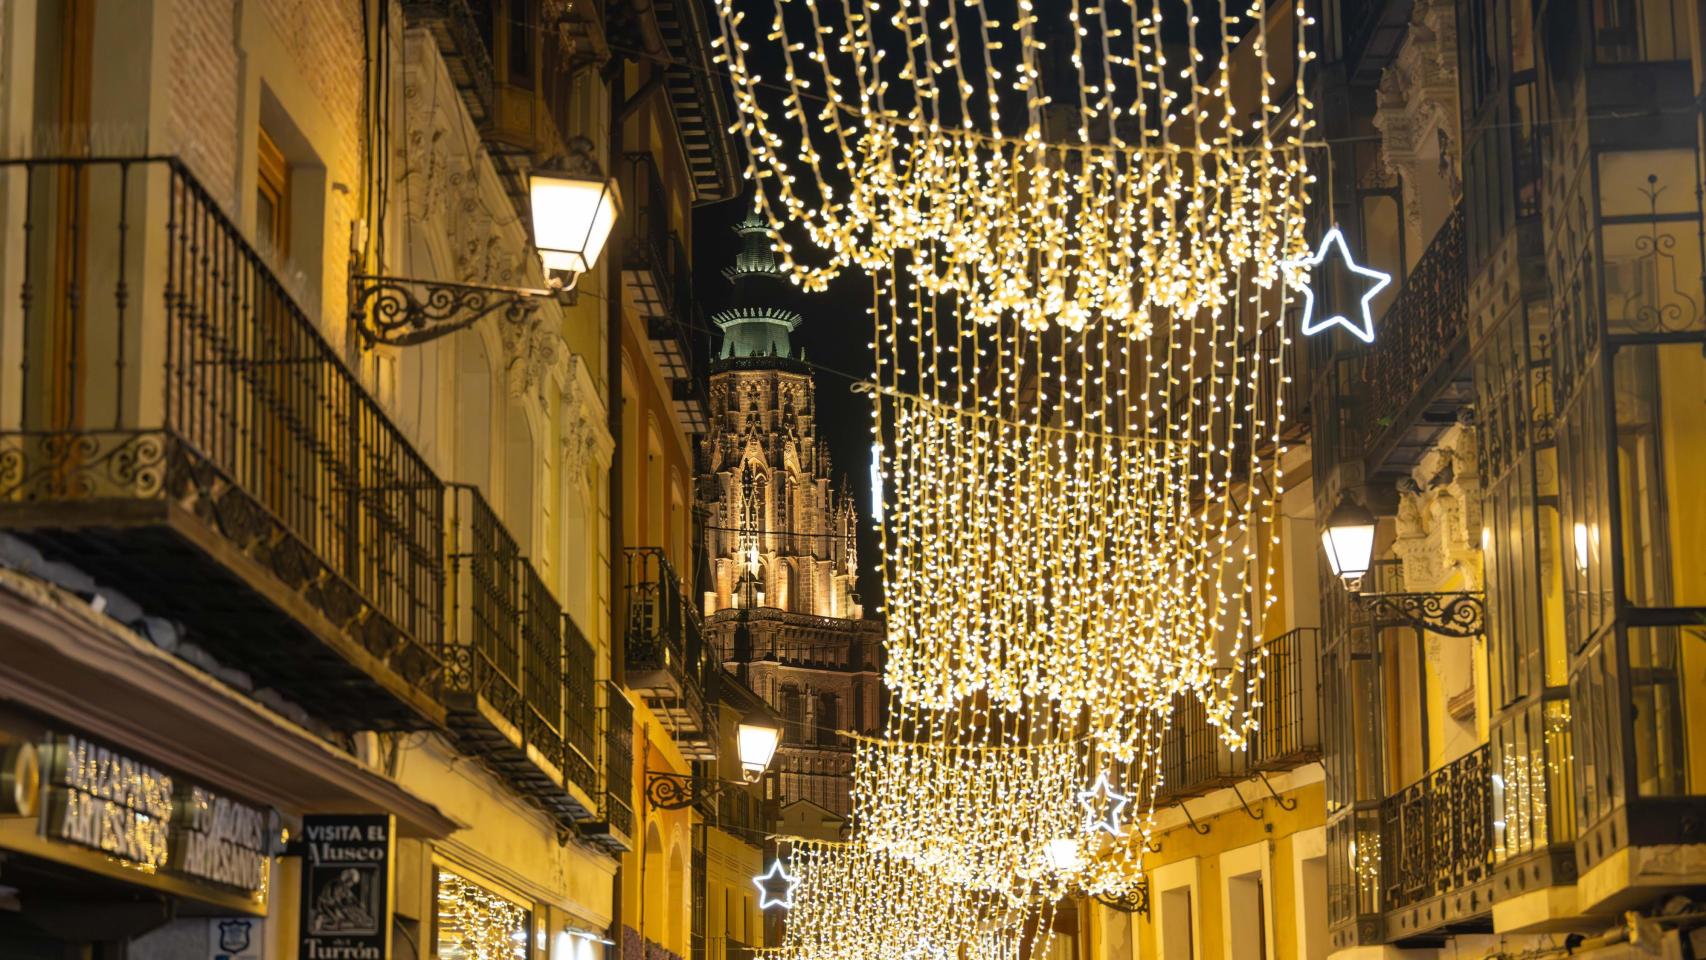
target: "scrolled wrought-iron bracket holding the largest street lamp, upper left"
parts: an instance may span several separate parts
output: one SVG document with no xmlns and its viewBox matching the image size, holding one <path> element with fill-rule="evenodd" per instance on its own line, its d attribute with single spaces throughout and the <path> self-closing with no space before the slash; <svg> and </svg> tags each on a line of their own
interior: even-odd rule
<svg viewBox="0 0 1706 960">
<path fill-rule="evenodd" d="M 450 283 L 406 276 L 350 278 L 350 315 L 368 344 L 411 346 L 466 329 L 498 314 L 527 326 L 539 304 L 572 304 L 573 290 Z"/>
</svg>

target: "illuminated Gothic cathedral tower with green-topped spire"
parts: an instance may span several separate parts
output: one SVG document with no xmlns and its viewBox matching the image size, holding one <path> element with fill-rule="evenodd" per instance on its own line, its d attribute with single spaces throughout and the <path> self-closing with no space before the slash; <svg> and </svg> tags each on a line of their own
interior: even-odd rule
<svg viewBox="0 0 1706 960">
<path fill-rule="evenodd" d="M 879 726 L 882 626 L 865 619 L 858 510 L 831 477 L 817 435 L 817 385 L 790 334 L 771 239 L 756 215 L 735 227 L 732 304 L 713 314 L 710 430 L 699 447 L 706 629 L 723 668 L 783 721 L 775 771 L 783 818 L 834 832 L 848 815 L 851 743 Z M 795 803 L 809 807 L 790 810 Z"/>
</svg>

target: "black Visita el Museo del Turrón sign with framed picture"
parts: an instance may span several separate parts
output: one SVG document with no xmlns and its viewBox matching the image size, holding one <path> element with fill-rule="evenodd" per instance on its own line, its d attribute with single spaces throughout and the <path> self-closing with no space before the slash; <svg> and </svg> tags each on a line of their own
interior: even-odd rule
<svg viewBox="0 0 1706 960">
<path fill-rule="evenodd" d="M 391 960 L 392 818 L 302 818 L 302 960 Z"/>
</svg>

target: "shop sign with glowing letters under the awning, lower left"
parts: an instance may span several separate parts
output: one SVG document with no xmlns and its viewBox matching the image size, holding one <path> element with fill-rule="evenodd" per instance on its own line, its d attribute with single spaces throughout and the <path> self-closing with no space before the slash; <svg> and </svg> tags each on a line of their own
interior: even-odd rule
<svg viewBox="0 0 1706 960">
<path fill-rule="evenodd" d="M 276 813 L 174 778 L 75 733 L 49 742 L 48 839 L 256 893 Z"/>
</svg>

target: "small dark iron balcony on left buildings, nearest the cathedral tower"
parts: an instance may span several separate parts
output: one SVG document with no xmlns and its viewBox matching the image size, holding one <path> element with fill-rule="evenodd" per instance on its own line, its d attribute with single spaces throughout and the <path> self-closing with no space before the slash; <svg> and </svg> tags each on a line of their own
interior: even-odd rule
<svg viewBox="0 0 1706 960">
<path fill-rule="evenodd" d="M 715 760 L 717 725 L 705 703 L 711 677 L 699 612 L 681 590 L 662 547 L 628 549 L 628 689 L 645 697 L 682 757 Z"/>
</svg>

